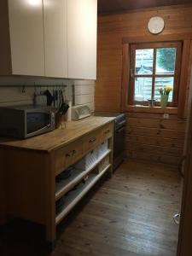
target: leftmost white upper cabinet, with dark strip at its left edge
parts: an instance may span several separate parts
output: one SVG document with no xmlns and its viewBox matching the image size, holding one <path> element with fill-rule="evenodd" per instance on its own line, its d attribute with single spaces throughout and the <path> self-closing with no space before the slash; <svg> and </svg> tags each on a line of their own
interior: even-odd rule
<svg viewBox="0 0 192 256">
<path fill-rule="evenodd" d="M 41 0 L 0 1 L 2 75 L 44 76 L 44 20 Z"/>
</svg>

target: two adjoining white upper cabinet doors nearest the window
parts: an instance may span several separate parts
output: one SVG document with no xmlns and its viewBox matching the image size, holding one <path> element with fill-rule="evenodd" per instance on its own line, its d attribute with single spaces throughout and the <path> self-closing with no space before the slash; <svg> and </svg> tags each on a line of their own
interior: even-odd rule
<svg viewBox="0 0 192 256">
<path fill-rule="evenodd" d="M 96 79 L 97 0 L 44 0 L 45 76 Z"/>
</svg>

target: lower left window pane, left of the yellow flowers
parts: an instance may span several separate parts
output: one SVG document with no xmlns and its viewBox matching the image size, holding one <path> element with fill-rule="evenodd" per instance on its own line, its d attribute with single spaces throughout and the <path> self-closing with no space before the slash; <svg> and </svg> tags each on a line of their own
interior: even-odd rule
<svg viewBox="0 0 192 256">
<path fill-rule="evenodd" d="M 135 101 L 148 101 L 152 95 L 152 78 L 135 79 Z"/>
</svg>

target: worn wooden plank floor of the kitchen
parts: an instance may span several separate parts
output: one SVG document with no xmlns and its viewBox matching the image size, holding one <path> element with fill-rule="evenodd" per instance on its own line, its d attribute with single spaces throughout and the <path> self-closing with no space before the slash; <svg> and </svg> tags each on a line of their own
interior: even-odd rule
<svg viewBox="0 0 192 256">
<path fill-rule="evenodd" d="M 9 239 L 4 255 L 175 256 L 178 226 L 172 216 L 179 212 L 180 192 L 177 170 L 125 162 L 61 223 L 53 253 L 39 239 L 38 245 L 21 245 L 20 239 L 19 247 Z"/>
</svg>

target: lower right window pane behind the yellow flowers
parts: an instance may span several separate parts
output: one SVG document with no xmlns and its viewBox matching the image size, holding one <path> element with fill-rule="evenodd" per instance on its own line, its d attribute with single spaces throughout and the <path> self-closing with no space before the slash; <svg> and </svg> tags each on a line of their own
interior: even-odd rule
<svg viewBox="0 0 192 256">
<path fill-rule="evenodd" d="M 156 101 L 160 102 L 160 92 L 158 88 L 164 88 L 164 87 L 172 87 L 173 88 L 174 84 L 174 78 L 173 77 L 168 77 L 168 78 L 156 78 L 155 79 L 155 85 L 154 85 L 154 99 Z M 169 102 L 172 102 L 172 91 L 169 94 Z"/>
</svg>

